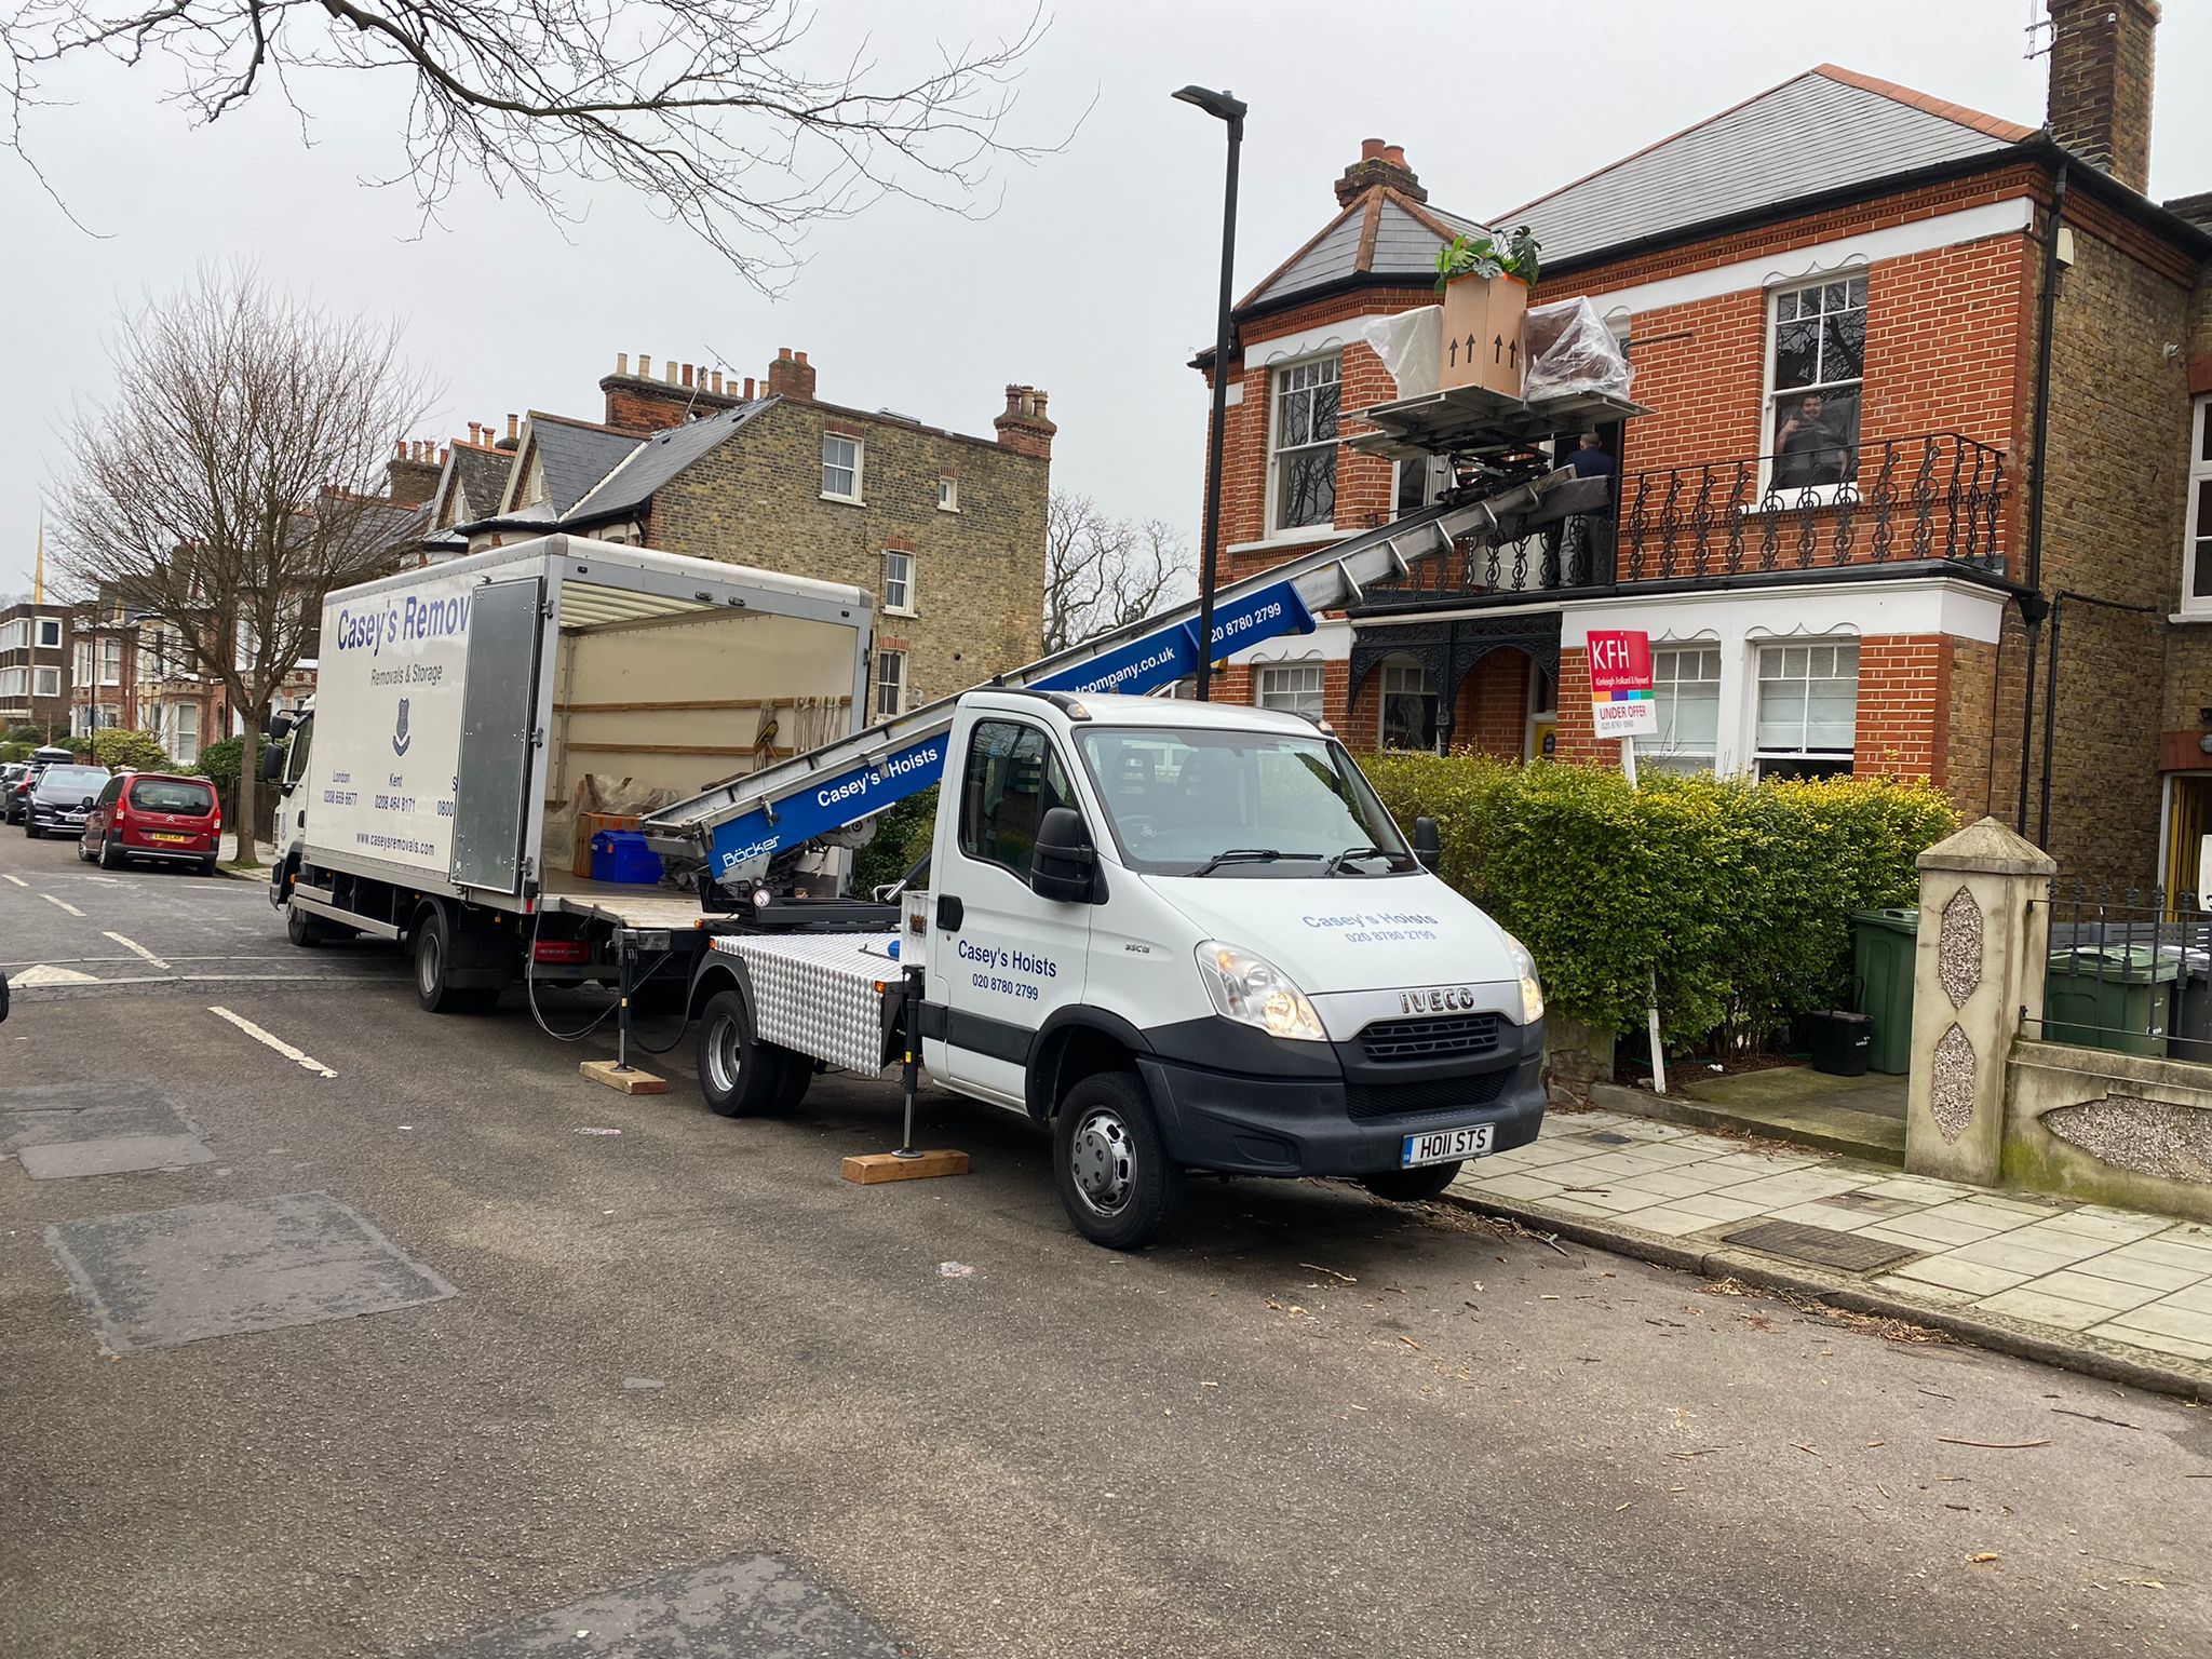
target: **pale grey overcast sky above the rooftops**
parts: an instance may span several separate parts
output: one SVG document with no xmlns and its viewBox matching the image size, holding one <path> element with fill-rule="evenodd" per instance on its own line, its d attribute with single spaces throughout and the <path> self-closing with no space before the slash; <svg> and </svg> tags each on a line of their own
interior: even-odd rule
<svg viewBox="0 0 2212 1659">
<path fill-rule="evenodd" d="M 825 9 L 818 38 L 894 18 L 967 38 L 1018 31 L 1026 15 L 1018 0 L 929 11 L 849 0 Z M 2031 0 L 1057 0 L 1011 133 L 1051 139 L 1091 106 L 1066 148 L 1006 166 L 980 221 L 894 201 L 823 226 L 779 301 L 613 190 L 566 239 L 533 206 L 482 190 L 418 234 L 411 197 L 361 184 L 398 157 L 398 75 L 294 82 L 314 111 L 307 148 L 276 102 L 195 131 L 159 104 L 157 64 L 86 73 L 58 84 L 75 104 L 38 113 L 31 142 L 100 239 L 0 157 L 0 591 L 29 588 L 38 495 L 64 467 L 60 420 L 73 400 L 115 396 L 104 341 L 117 307 L 210 259 L 250 259 L 334 307 L 400 319 L 409 352 L 447 387 L 442 418 L 416 436 L 531 407 L 597 418 L 615 352 L 761 374 L 790 345 L 812 356 L 832 403 L 984 436 L 1009 380 L 1046 387 L 1057 484 L 1194 533 L 1206 392 L 1186 363 L 1212 338 L 1221 126 L 1170 102 L 1172 88 L 1230 86 L 1252 106 L 1243 292 L 1334 212 L 1329 186 L 1363 137 L 1402 144 L 1438 206 L 1484 217 L 1818 62 L 2042 124 L 2044 60 L 2024 58 L 2031 11 Z M 2154 197 L 2212 188 L 2205 69 L 2212 4 L 2168 4 Z"/>
</svg>

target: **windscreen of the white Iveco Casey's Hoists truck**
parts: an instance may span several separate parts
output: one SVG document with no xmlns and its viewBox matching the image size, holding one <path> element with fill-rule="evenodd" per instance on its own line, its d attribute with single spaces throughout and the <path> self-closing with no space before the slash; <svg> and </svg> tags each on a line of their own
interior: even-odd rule
<svg viewBox="0 0 2212 1659">
<path fill-rule="evenodd" d="M 1077 748 L 1130 869 L 1314 876 L 1332 860 L 1332 874 L 1416 869 L 1374 787 L 1325 737 L 1091 726 Z"/>
</svg>

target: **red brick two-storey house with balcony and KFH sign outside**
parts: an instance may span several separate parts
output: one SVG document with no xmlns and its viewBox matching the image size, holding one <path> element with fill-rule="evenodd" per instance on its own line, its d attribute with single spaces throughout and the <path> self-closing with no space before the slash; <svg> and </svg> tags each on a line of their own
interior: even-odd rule
<svg viewBox="0 0 2212 1659">
<path fill-rule="evenodd" d="M 2168 874 L 2174 812 L 2212 830 L 2212 234 L 2203 199 L 2143 195 L 2157 18 L 2051 0 L 2044 128 L 1823 64 L 1493 215 L 1544 243 L 1535 301 L 1590 299 L 1635 365 L 1617 513 L 1462 544 L 1223 695 L 1356 745 L 1610 761 L 1584 641 L 1646 628 L 1657 765 L 1933 779 L 1969 814 L 2026 799 L 2070 869 Z M 1436 301 L 1469 221 L 1380 142 L 1336 201 L 1237 307 L 1225 573 L 1444 482 L 1349 440 L 1398 396 L 1383 321 Z"/>
</svg>

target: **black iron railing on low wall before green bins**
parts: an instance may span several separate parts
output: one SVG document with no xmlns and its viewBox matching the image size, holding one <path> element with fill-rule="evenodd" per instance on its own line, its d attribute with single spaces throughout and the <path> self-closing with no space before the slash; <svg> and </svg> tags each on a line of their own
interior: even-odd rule
<svg viewBox="0 0 2212 1659">
<path fill-rule="evenodd" d="M 2212 1062 L 2212 914 L 2163 887 L 2051 883 L 2044 1018 L 2024 1035 Z"/>
</svg>

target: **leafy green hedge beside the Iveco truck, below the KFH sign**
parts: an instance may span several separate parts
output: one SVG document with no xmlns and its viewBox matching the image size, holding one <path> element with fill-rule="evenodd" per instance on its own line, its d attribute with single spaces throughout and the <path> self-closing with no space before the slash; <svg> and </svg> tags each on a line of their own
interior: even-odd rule
<svg viewBox="0 0 2212 1659">
<path fill-rule="evenodd" d="M 1562 1013 L 1641 1020 L 1659 969 L 1668 1046 L 1763 1040 L 1849 995 L 1851 911 L 1909 905 L 1913 856 L 1958 827 L 1933 787 L 1887 779 L 1730 783 L 1482 757 L 1363 761 L 1442 876 L 1535 953 Z"/>
</svg>

